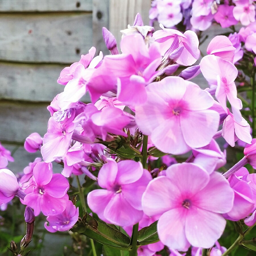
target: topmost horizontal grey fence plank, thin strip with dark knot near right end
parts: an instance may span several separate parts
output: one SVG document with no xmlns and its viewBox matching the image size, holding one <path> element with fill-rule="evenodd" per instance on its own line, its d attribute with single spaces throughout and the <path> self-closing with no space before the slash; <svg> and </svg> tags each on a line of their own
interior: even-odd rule
<svg viewBox="0 0 256 256">
<path fill-rule="evenodd" d="M 92 11 L 92 0 L 0 0 L 0 12 Z"/>
</svg>

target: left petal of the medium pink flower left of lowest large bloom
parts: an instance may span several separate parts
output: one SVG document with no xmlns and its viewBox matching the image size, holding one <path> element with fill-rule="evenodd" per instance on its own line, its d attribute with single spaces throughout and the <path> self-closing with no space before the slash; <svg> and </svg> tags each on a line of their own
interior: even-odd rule
<svg viewBox="0 0 256 256">
<path fill-rule="evenodd" d="M 103 221 L 104 210 L 113 196 L 113 192 L 106 189 L 95 189 L 87 195 L 87 203 L 90 209 L 95 212 Z"/>
</svg>

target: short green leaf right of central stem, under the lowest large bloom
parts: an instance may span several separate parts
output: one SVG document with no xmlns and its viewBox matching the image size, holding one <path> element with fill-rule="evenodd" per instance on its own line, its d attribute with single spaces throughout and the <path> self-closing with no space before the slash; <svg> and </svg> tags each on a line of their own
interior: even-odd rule
<svg viewBox="0 0 256 256">
<path fill-rule="evenodd" d="M 156 243 L 159 241 L 156 225 L 157 221 L 152 223 L 150 226 L 139 230 L 138 241 L 140 245 Z"/>
</svg>

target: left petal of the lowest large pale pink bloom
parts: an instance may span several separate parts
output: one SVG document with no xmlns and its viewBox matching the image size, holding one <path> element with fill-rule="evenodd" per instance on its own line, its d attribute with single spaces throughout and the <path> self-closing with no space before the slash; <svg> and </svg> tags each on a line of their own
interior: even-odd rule
<svg viewBox="0 0 256 256">
<path fill-rule="evenodd" d="M 178 207 L 181 194 L 176 186 L 165 176 L 149 182 L 142 196 L 142 209 L 148 216 L 163 214 Z M 178 203 L 177 203 L 178 201 Z M 182 203 L 182 202 L 181 202 Z"/>
</svg>

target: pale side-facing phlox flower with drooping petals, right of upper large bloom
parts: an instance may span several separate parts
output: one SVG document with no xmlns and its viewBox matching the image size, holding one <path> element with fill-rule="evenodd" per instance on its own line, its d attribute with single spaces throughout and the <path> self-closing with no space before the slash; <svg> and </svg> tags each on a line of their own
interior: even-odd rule
<svg viewBox="0 0 256 256">
<path fill-rule="evenodd" d="M 226 113 L 226 98 L 230 102 L 232 112 L 238 112 L 242 108 L 242 102 L 237 98 L 234 83 L 238 75 L 235 65 L 218 56 L 207 55 L 201 60 L 200 69 L 207 82 L 217 86 L 215 96 Z"/>
</svg>

